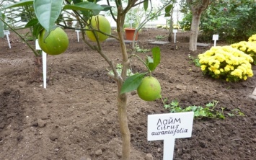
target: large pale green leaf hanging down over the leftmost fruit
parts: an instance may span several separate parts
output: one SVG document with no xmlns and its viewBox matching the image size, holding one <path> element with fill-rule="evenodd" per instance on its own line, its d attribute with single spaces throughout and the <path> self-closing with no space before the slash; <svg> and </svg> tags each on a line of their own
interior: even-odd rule
<svg viewBox="0 0 256 160">
<path fill-rule="evenodd" d="M 58 16 L 61 14 L 63 0 L 35 0 L 35 15 L 47 32 L 52 30 Z"/>
</svg>

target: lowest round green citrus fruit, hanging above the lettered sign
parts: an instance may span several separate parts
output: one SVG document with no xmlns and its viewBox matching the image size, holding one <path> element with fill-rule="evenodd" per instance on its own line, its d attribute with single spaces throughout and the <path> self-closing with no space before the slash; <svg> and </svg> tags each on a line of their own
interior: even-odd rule
<svg viewBox="0 0 256 160">
<path fill-rule="evenodd" d="M 142 79 L 137 89 L 138 97 L 145 101 L 154 101 L 161 97 L 161 85 L 153 76 Z"/>
</svg>

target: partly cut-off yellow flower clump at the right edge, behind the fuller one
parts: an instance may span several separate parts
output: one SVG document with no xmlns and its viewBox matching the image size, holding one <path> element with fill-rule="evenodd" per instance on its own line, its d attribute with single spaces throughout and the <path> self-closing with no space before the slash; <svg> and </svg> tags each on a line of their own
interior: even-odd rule
<svg viewBox="0 0 256 160">
<path fill-rule="evenodd" d="M 255 40 L 256 40 L 256 36 L 255 36 Z M 247 54 L 250 54 L 251 52 L 256 54 L 256 43 L 254 42 L 241 41 L 239 43 L 232 44 L 231 47 L 242 50 L 244 53 L 247 53 Z"/>
</svg>

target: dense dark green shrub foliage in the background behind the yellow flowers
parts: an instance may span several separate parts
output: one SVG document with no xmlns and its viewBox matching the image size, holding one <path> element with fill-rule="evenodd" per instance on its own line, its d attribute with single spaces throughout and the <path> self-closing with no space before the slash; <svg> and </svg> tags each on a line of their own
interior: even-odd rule
<svg viewBox="0 0 256 160">
<path fill-rule="evenodd" d="M 190 30 L 191 15 L 191 12 L 186 12 L 180 22 L 185 30 Z M 220 40 L 227 43 L 247 40 L 256 33 L 255 16 L 255 0 L 212 1 L 200 19 L 201 38 L 211 40 L 212 35 L 218 34 Z"/>
</svg>

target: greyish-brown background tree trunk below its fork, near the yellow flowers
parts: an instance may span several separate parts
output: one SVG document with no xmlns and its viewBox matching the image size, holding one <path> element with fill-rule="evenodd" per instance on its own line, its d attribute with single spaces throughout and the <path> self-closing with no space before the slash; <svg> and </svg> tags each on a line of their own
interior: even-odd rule
<svg viewBox="0 0 256 160">
<path fill-rule="evenodd" d="M 189 50 L 191 51 L 197 50 L 198 28 L 200 25 L 200 17 L 201 17 L 201 14 L 198 15 L 197 13 L 193 13 L 191 30 L 190 30 L 190 47 L 189 47 Z"/>
</svg>

